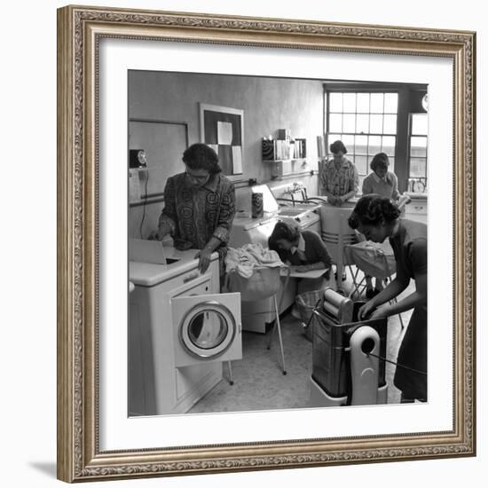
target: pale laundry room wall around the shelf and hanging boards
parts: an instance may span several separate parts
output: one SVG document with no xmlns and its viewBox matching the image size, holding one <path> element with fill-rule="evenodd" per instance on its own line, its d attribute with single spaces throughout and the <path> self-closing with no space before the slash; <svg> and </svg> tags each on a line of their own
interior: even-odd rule
<svg viewBox="0 0 488 488">
<path fill-rule="evenodd" d="M 281 189 L 297 181 L 307 187 L 309 195 L 317 194 L 316 175 L 272 180 L 271 163 L 262 161 L 261 141 L 270 135 L 276 138 L 279 129 L 288 129 L 292 138 L 306 138 L 306 169 L 317 169 L 317 136 L 323 131 L 321 81 L 130 71 L 130 119 L 183 122 L 187 124 L 188 145 L 192 145 L 201 140 L 199 103 L 244 111 L 243 175 L 241 182 L 236 183 L 237 209 L 250 209 L 249 178 L 256 178 L 258 183 L 278 185 Z M 168 174 L 164 174 L 164 169 L 158 170 L 161 192 L 166 177 L 183 170 L 184 166 L 178 160 L 165 164 L 164 168 L 168 168 Z M 151 178 L 152 171 L 147 174 Z M 157 226 L 162 205 L 161 198 L 146 205 L 132 204 L 129 212 L 130 237 L 146 238 Z"/>
</svg>

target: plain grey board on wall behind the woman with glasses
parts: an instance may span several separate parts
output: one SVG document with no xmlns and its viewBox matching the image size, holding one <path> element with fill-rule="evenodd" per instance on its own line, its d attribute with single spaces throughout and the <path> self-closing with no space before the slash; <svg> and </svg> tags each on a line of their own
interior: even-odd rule
<svg viewBox="0 0 488 488">
<path fill-rule="evenodd" d="M 129 149 L 142 149 L 146 153 L 147 170 L 140 177 L 141 202 L 161 198 L 168 177 L 185 170 L 182 157 L 187 147 L 186 122 L 129 120 Z"/>
</svg>

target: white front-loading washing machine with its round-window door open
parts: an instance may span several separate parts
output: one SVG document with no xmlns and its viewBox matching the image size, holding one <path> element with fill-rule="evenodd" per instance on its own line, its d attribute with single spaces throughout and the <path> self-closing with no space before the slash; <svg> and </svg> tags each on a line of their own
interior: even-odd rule
<svg viewBox="0 0 488 488">
<path fill-rule="evenodd" d="M 240 294 L 220 294 L 218 256 L 165 248 L 169 264 L 130 261 L 129 413 L 187 412 L 242 358 Z"/>
</svg>

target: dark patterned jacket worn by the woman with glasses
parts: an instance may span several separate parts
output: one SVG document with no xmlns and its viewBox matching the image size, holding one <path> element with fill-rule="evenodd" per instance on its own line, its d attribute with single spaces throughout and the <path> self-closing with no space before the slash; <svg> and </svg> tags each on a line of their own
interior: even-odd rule
<svg viewBox="0 0 488 488">
<path fill-rule="evenodd" d="M 159 219 L 159 231 L 169 233 L 175 248 L 203 249 L 212 237 L 222 243 L 216 251 L 222 259 L 235 214 L 235 190 L 232 182 L 217 173 L 197 187 L 186 173 L 169 177 L 164 188 L 164 209 Z"/>
</svg>

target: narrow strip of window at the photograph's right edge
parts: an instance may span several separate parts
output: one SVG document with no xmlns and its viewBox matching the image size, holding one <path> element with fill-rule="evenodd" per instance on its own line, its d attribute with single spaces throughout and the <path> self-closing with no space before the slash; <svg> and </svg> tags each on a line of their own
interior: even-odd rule
<svg viewBox="0 0 488 488">
<path fill-rule="evenodd" d="M 410 114 L 409 190 L 427 191 L 427 114 Z"/>
</svg>

